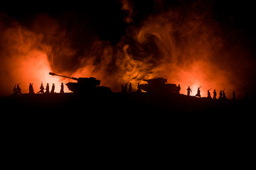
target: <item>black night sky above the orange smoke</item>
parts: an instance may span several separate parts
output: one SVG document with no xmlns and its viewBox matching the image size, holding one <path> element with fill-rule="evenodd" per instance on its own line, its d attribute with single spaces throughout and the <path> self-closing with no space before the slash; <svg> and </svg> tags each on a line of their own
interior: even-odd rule
<svg viewBox="0 0 256 170">
<path fill-rule="evenodd" d="M 166 1 L 166 6 L 175 7 L 193 1 Z M 208 1 L 207 1 L 208 3 Z M 252 1 L 212 1 L 213 17 L 232 29 L 240 30 L 248 43 L 255 47 L 255 6 Z M 150 13 L 157 12 L 154 1 L 133 1 L 134 23 L 139 23 Z M 40 13 L 53 18 L 60 18 L 72 27 L 76 24 L 89 27 L 99 36 L 100 40 L 118 42 L 127 28 L 124 23 L 125 13 L 121 11 L 119 1 L 36 1 L 36 2 L 6 2 L 1 4 L 0 11 L 20 21 L 30 24 L 31 18 Z"/>
</svg>

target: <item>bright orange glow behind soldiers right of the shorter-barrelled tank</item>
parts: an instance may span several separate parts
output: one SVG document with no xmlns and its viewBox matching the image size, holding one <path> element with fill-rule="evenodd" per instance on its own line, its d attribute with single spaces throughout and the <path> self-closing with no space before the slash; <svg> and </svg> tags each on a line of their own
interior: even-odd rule
<svg viewBox="0 0 256 170">
<path fill-rule="evenodd" d="M 218 71 L 218 67 L 212 66 L 209 62 L 194 62 L 189 67 L 178 67 L 178 70 L 170 74 L 168 78 L 169 83 L 181 84 L 181 94 L 187 94 L 186 89 L 191 87 L 191 96 L 195 96 L 198 87 L 201 86 L 201 97 L 207 97 L 207 91 L 210 89 L 211 97 L 213 97 L 213 90 L 218 93 L 224 90 L 227 97 L 231 98 L 231 94 L 235 89 L 233 84 L 230 84 L 227 72 Z M 228 87 L 228 88 L 227 88 Z"/>
</svg>

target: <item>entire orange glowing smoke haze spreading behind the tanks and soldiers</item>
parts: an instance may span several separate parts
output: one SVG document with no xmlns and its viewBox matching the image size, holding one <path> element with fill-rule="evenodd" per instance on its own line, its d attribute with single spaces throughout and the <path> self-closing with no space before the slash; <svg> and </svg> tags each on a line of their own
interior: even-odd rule
<svg viewBox="0 0 256 170">
<path fill-rule="evenodd" d="M 114 92 L 128 82 L 135 91 L 141 79 L 156 77 L 181 84 L 182 94 L 188 86 L 192 95 L 202 86 L 201 96 L 206 96 L 208 89 L 211 94 L 213 89 L 217 93 L 225 89 L 228 98 L 233 91 L 240 98 L 250 91 L 248 75 L 255 64 L 250 51 L 233 38 L 237 32 L 229 32 L 211 17 L 210 5 L 193 3 L 190 8 L 161 9 L 160 1 L 156 1 L 157 12 L 134 23 L 132 4 L 121 2 L 122 10 L 128 11 L 124 22 L 129 25 L 116 45 L 99 40 L 89 30 L 79 32 L 88 41 L 78 43 L 73 35 L 80 28 L 68 30 L 50 16 L 40 15 L 26 28 L 14 20 L 6 26 L 4 18 L 9 16 L 2 15 L 1 96 L 11 94 L 19 82 L 22 92 L 28 93 L 29 83 L 33 83 L 35 92 L 42 81 L 44 86 L 55 83 L 55 92 L 59 92 L 60 82 L 70 81 L 50 77 L 48 72 L 96 77 Z"/>
</svg>

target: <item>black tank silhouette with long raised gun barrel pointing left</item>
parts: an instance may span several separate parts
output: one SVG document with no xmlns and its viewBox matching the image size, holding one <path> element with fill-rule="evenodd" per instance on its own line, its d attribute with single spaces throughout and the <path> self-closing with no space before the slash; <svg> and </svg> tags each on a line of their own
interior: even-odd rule
<svg viewBox="0 0 256 170">
<path fill-rule="evenodd" d="M 74 94 L 112 94 L 112 91 L 109 87 L 100 86 L 100 80 L 95 79 L 95 77 L 85 78 L 85 77 L 66 77 L 60 74 L 55 74 L 49 72 L 51 76 L 65 77 L 68 79 L 73 79 L 75 82 L 69 82 L 65 84 L 68 86 L 70 91 L 73 91 Z"/>
</svg>

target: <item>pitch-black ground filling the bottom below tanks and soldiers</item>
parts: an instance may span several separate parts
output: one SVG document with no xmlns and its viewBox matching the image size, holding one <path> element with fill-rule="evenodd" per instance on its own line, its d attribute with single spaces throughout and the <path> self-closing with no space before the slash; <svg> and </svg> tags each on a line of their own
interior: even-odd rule
<svg viewBox="0 0 256 170">
<path fill-rule="evenodd" d="M 22 94 L 1 98 L 1 141 L 5 157 L 12 158 L 7 160 L 18 166 L 133 167 L 147 161 L 159 168 L 171 159 L 179 166 L 245 168 L 255 149 L 254 103 L 183 95 Z"/>
</svg>

